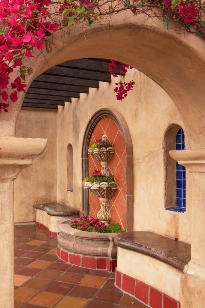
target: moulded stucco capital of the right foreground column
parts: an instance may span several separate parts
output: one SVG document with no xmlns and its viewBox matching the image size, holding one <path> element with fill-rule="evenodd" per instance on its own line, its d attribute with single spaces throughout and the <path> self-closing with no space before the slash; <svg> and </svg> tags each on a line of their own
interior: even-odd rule
<svg viewBox="0 0 205 308">
<path fill-rule="evenodd" d="M 169 155 L 189 172 L 205 172 L 205 148 L 193 150 L 172 150 Z"/>
</svg>

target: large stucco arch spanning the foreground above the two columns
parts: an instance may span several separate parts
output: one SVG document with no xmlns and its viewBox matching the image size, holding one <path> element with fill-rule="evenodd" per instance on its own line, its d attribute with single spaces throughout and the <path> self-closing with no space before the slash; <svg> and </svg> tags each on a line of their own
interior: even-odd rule
<svg viewBox="0 0 205 308">
<path fill-rule="evenodd" d="M 187 148 L 201 148 L 205 144 L 204 42 L 192 34 L 178 34 L 180 29 L 174 23 L 172 26 L 173 29 L 167 31 L 161 20 L 145 22 L 124 12 L 113 16 L 109 28 L 101 25 L 84 32 L 74 26 L 70 36 L 67 32 L 55 33 L 50 51 L 44 50 L 35 63 L 27 63 L 34 71 L 27 79 L 28 86 L 37 75 L 66 60 L 117 59 L 142 71 L 168 93 L 182 115 L 189 136 Z M 14 134 L 14 122 L 23 96 L 21 93 L 18 103 L 12 104 L 10 112 L 2 115 L 2 136 Z"/>
</svg>

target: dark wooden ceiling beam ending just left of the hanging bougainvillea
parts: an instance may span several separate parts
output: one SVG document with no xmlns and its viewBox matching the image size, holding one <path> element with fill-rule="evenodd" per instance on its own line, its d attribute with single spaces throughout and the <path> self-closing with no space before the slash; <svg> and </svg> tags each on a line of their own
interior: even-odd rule
<svg viewBox="0 0 205 308">
<path fill-rule="evenodd" d="M 108 73 L 94 72 L 94 71 L 86 71 L 81 69 L 67 68 L 60 66 L 53 66 L 45 71 L 46 74 L 51 75 L 60 75 L 67 77 L 76 77 L 80 79 L 91 79 L 97 81 L 111 82 L 111 76 Z"/>
</svg>

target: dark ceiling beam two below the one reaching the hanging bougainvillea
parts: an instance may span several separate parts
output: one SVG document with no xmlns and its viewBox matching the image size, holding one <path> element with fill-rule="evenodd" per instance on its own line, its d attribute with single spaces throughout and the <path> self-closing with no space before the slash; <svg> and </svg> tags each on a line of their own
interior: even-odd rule
<svg viewBox="0 0 205 308">
<path fill-rule="evenodd" d="M 73 91 L 78 93 L 89 93 L 89 87 L 82 87 L 82 86 L 74 86 L 74 85 L 67 85 L 67 84 L 55 84 L 55 83 L 48 83 L 48 82 L 41 82 L 34 80 L 30 88 L 38 88 L 38 89 L 52 89 L 52 90 L 62 90 L 62 91 Z"/>
</svg>

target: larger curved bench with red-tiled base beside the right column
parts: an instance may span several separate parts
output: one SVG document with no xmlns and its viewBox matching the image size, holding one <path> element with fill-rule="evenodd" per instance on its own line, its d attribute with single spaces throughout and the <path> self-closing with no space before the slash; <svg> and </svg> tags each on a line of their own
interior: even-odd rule
<svg viewBox="0 0 205 308">
<path fill-rule="evenodd" d="M 114 241 L 116 286 L 152 308 L 180 307 L 180 284 L 191 260 L 191 245 L 140 231 L 118 234 Z"/>
</svg>

